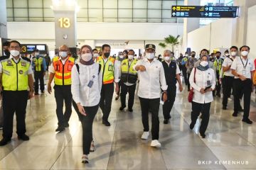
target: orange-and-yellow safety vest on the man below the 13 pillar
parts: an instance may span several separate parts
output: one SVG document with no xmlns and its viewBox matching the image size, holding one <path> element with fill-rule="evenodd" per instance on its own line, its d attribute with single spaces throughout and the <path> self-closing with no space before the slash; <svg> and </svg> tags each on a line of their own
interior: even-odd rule
<svg viewBox="0 0 256 170">
<path fill-rule="evenodd" d="M 60 57 L 53 58 L 55 85 L 71 85 L 71 69 L 74 64 L 75 59 L 73 57 L 68 57 L 65 64 L 61 62 Z"/>
</svg>

